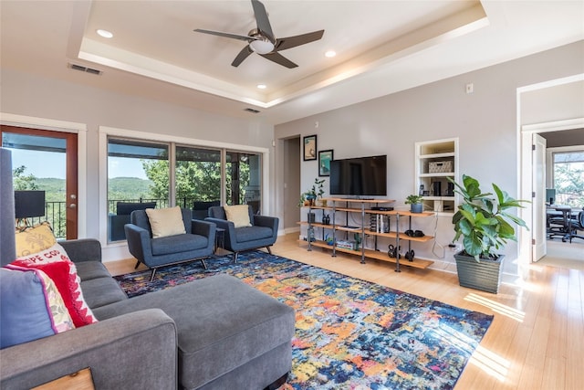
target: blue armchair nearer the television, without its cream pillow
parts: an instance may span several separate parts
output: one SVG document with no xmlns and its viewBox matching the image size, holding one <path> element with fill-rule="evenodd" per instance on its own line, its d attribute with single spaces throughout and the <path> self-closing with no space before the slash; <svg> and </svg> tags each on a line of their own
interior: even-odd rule
<svg viewBox="0 0 584 390">
<path fill-rule="evenodd" d="M 279 219 L 254 215 L 251 206 L 248 206 L 248 214 L 250 227 L 235 227 L 232 221 L 227 220 L 223 206 L 209 207 L 209 216 L 204 219 L 224 229 L 224 248 L 234 252 L 235 262 L 237 254 L 244 250 L 266 247 L 271 254 L 270 247 L 276 242 Z"/>
</svg>

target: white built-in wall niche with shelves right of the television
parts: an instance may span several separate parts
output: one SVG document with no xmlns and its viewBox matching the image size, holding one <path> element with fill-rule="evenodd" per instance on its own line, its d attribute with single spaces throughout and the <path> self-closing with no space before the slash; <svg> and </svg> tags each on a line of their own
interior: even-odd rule
<svg viewBox="0 0 584 390">
<path fill-rule="evenodd" d="M 458 181 L 458 138 L 415 143 L 416 188 L 424 211 L 452 215 L 456 210 L 454 184 Z"/>
</svg>

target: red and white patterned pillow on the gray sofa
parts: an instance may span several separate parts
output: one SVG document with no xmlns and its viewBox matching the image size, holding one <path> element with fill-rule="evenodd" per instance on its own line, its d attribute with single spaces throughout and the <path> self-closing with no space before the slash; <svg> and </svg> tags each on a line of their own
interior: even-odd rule
<svg viewBox="0 0 584 390">
<path fill-rule="evenodd" d="M 55 244 L 36 254 L 16 258 L 6 268 L 11 265 L 45 272 L 55 282 L 76 328 L 98 321 L 83 298 L 75 263 L 68 258 L 67 252 L 60 245 Z"/>
</svg>

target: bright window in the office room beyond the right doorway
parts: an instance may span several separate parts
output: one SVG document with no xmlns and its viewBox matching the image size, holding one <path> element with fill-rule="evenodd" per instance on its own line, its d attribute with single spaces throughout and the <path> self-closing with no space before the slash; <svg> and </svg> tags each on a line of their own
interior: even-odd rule
<svg viewBox="0 0 584 390">
<path fill-rule="evenodd" d="M 552 153 L 556 203 L 584 207 L 584 149 Z"/>
</svg>

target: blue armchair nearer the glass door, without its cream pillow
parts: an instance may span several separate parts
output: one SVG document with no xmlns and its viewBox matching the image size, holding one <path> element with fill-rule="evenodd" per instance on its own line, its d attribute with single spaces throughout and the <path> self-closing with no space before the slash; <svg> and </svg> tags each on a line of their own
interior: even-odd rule
<svg viewBox="0 0 584 390">
<path fill-rule="evenodd" d="M 204 258 L 214 254 L 215 225 L 200 220 L 193 220 L 193 211 L 182 208 L 183 224 L 186 233 L 167 237 L 152 237 L 152 230 L 145 210 L 132 211 L 130 224 L 124 229 L 128 248 L 134 258 L 152 269 L 151 280 L 156 269 L 184 261 L 198 259 L 207 265 Z"/>
</svg>

